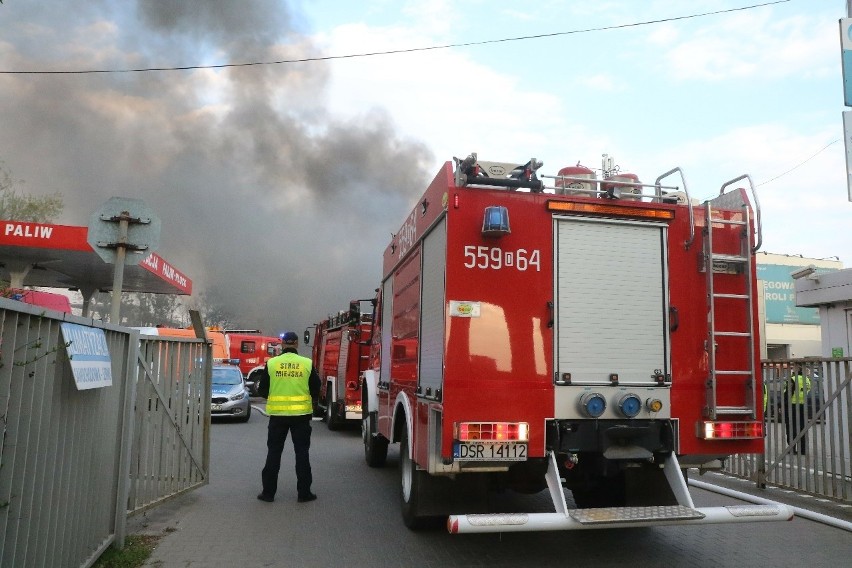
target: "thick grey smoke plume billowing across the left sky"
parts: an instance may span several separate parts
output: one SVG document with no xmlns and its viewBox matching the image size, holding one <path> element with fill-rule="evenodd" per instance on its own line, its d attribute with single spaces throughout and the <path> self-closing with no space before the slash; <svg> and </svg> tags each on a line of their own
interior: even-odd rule
<svg viewBox="0 0 852 568">
<path fill-rule="evenodd" d="M 278 1 L 0 7 L 0 61 L 127 69 L 321 55 Z M 45 6 L 47 4 L 47 6 Z M 324 109 L 331 68 L 0 76 L 0 157 L 86 225 L 111 196 L 162 220 L 159 254 L 237 314 L 301 330 L 372 294 L 381 254 L 434 172 L 386 113 Z"/>
</svg>

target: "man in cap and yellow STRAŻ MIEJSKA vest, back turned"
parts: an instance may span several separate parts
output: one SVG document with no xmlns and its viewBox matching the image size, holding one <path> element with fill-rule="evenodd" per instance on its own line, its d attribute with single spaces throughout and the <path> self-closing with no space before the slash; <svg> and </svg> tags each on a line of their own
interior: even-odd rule
<svg viewBox="0 0 852 568">
<path fill-rule="evenodd" d="M 297 351 L 299 336 L 292 331 L 281 335 L 283 350 L 270 359 L 260 372 L 258 395 L 266 399 L 269 427 L 266 438 L 266 464 L 260 478 L 263 490 L 257 496 L 271 503 L 278 491 L 278 472 L 281 470 L 281 453 L 287 434 L 293 434 L 293 451 L 296 454 L 296 500 L 313 501 L 311 492 L 311 417 L 320 391 L 320 379 L 311 360 Z"/>
</svg>

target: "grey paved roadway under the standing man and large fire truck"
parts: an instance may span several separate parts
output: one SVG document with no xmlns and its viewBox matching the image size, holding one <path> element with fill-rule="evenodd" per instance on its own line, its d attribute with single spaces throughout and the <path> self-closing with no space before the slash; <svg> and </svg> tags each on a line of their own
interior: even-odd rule
<svg viewBox="0 0 852 568">
<path fill-rule="evenodd" d="M 162 534 L 146 566 L 521 567 L 848 566 L 852 533 L 807 519 L 736 525 L 450 535 L 405 528 L 398 502 L 398 448 L 367 467 L 357 429 L 313 422 L 311 503 L 296 502 L 292 446 L 284 449 L 274 503 L 256 499 L 267 418 L 214 422 L 210 484 L 131 519 L 129 534 Z M 357 427 L 356 427 L 357 428 Z M 546 494 L 502 497 L 542 507 Z M 698 506 L 740 503 L 693 490 Z"/>
</svg>

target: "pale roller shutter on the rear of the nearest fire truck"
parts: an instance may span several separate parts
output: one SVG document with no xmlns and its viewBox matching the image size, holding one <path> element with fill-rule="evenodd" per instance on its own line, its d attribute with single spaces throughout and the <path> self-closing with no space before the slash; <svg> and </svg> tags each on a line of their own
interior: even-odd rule
<svg viewBox="0 0 852 568">
<path fill-rule="evenodd" d="M 665 226 L 577 218 L 555 224 L 555 364 L 557 376 L 570 373 L 573 381 L 557 388 L 555 415 L 584 418 L 578 389 L 585 385 L 607 397 L 601 419 L 623 418 L 611 397 L 626 392 L 615 392 L 612 376 L 644 400 L 642 389 L 657 386 L 655 370 L 670 368 Z M 668 407 L 667 394 L 657 389 L 654 397 Z"/>
</svg>

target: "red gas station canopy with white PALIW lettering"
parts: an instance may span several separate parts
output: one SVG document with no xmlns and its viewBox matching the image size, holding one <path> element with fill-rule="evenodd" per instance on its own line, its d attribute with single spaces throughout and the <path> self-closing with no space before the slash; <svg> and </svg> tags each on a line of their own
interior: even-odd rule
<svg viewBox="0 0 852 568">
<path fill-rule="evenodd" d="M 88 227 L 0 221 L 0 278 L 19 286 L 112 290 L 113 268 L 87 242 Z M 136 253 L 128 253 L 136 254 Z M 192 281 L 156 253 L 124 268 L 123 292 L 192 294 Z"/>
</svg>

